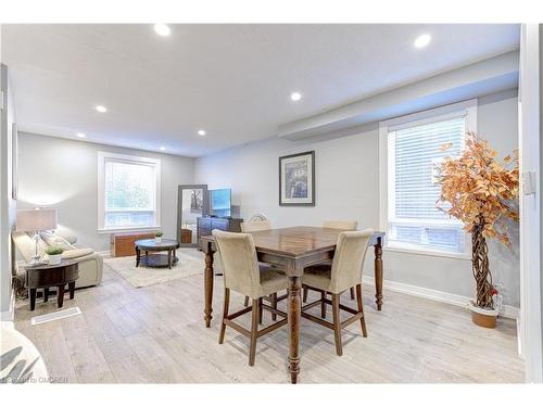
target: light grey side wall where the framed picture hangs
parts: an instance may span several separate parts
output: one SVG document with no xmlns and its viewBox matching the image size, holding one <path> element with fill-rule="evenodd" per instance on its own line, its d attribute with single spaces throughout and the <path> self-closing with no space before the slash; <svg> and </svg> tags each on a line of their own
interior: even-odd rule
<svg viewBox="0 0 543 407">
<path fill-rule="evenodd" d="M 479 100 L 478 131 L 501 155 L 517 148 L 517 97 L 506 91 Z M 278 204 L 278 157 L 315 150 L 316 205 Z M 276 227 L 318 226 L 324 219 L 356 219 L 361 228 L 379 228 L 379 163 L 377 124 L 361 133 L 324 141 L 292 142 L 278 138 L 236 147 L 194 161 L 194 181 L 211 189 L 232 189 L 241 217 L 262 212 Z M 518 234 L 515 226 L 513 234 Z M 519 304 L 518 240 L 514 251 L 491 244 L 495 281 L 505 285 L 506 304 Z M 371 256 L 368 256 L 371 257 Z M 368 258 L 366 274 L 372 272 Z M 468 259 L 386 252 L 384 278 L 453 294 L 475 292 Z"/>
</svg>

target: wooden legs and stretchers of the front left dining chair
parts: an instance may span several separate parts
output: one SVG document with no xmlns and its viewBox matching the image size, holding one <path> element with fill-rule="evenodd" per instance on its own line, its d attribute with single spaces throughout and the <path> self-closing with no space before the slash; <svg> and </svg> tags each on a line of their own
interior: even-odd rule
<svg viewBox="0 0 543 407">
<path fill-rule="evenodd" d="M 220 323 L 220 332 L 218 334 L 218 343 L 223 344 L 225 342 L 225 334 L 226 334 L 226 327 L 233 328 L 236 331 L 239 333 L 248 336 L 250 339 L 250 347 L 249 347 L 249 366 L 254 365 L 254 359 L 256 356 L 256 340 L 261 338 L 262 335 L 265 335 L 266 333 L 273 332 L 278 328 L 281 328 L 282 326 L 287 325 L 288 318 L 287 314 L 283 313 L 282 310 L 277 309 L 277 293 L 274 293 L 270 295 L 270 297 L 276 298 L 275 306 L 263 304 L 263 297 L 253 300 L 253 303 L 251 306 L 242 308 L 240 310 L 237 310 L 233 314 L 228 314 L 228 307 L 230 304 L 230 290 L 225 289 L 225 303 L 224 303 L 224 308 L 223 308 L 223 322 Z M 275 317 L 274 320 L 277 319 L 277 315 L 282 317 L 281 320 L 272 323 L 270 326 L 267 326 L 266 328 L 263 328 L 258 330 L 258 325 L 262 323 L 262 314 L 263 310 L 266 309 L 272 313 L 272 318 Z M 252 318 L 251 318 L 251 330 L 247 330 L 245 328 L 241 327 L 240 325 L 233 322 L 233 319 L 247 314 L 247 313 L 252 313 Z"/>
</svg>

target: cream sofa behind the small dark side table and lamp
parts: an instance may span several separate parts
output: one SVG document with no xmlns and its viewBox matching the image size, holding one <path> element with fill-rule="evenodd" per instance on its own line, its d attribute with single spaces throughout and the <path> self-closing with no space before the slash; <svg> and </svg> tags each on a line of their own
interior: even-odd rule
<svg viewBox="0 0 543 407">
<path fill-rule="evenodd" d="M 83 288 L 99 284 L 100 281 L 102 281 L 102 256 L 91 249 L 77 244 L 77 238 L 75 236 L 66 236 L 59 232 L 58 234 L 62 236 L 70 244 L 76 247 L 74 250 L 67 250 L 62 254 L 64 258 L 75 258 L 78 260 L 79 278 L 76 280 L 75 287 Z M 23 259 L 26 263 L 30 262 L 34 257 L 36 247 L 34 239 L 27 233 L 20 231 L 12 232 L 12 238 Z"/>
</svg>

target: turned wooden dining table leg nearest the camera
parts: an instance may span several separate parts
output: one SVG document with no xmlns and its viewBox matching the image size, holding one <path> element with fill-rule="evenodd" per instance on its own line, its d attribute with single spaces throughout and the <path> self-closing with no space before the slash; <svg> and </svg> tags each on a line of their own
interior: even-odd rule
<svg viewBox="0 0 543 407">
<path fill-rule="evenodd" d="M 291 383 L 298 382 L 298 373 L 300 373 L 301 290 L 302 283 L 300 277 L 289 277 L 289 296 L 287 302 L 289 318 L 289 371 Z"/>
</svg>

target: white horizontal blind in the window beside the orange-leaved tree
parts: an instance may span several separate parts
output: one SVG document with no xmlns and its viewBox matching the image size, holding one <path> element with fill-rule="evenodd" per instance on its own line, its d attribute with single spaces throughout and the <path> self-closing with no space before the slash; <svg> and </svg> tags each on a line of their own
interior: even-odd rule
<svg viewBox="0 0 543 407">
<path fill-rule="evenodd" d="M 465 232 L 439 211 L 435 164 L 464 149 L 465 115 L 389 128 L 389 243 L 453 253 L 465 252 Z M 441 147 L 451 148 L 441 151 Z"/>
</svg>

